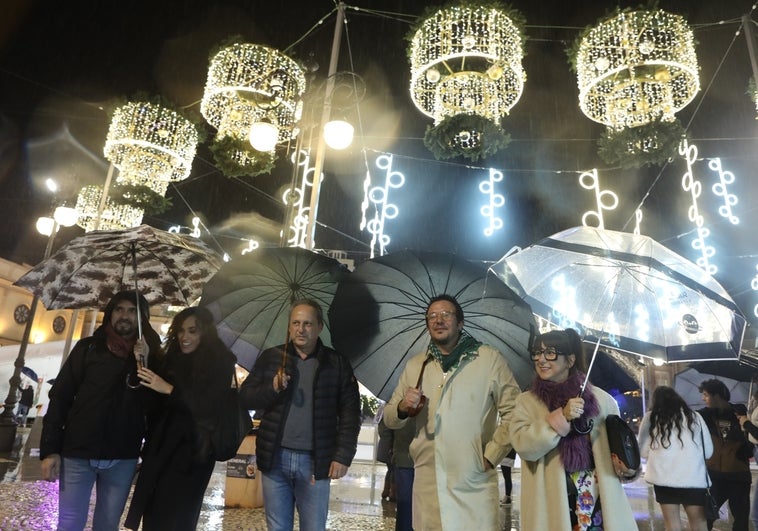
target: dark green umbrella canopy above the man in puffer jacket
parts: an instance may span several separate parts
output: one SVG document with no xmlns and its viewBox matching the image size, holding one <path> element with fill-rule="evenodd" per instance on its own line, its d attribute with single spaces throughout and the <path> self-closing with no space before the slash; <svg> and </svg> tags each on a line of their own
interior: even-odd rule
<svg viewBox="0 0 758 531">
<path fill-rule="evenodd" d="M 250 370 L 262 350 L 285 342 L 290 305 L 298 299 L 321 305 L 321 339 L 330 345 L 326 312 L 346 274 L 337 260 L 306 249 L 260 248 L 224 264 L 203 288 L 200 304 L 215 317 L 237 363 Z"/>
</svg>

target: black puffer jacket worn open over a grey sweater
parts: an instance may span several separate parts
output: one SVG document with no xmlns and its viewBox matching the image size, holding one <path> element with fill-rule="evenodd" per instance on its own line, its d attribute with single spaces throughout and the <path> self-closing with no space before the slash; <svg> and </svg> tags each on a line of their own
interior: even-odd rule
<svg viewBox="0 0 758 531">
<path fill-rule="evenodd" d="M 273 466 L 292 401 L 291 388 L 277 393 L 273 387 L 283 348 L 280 345 L 263 351 L 240 387 L 243 407 L 263 410 L 256 440 L 257 464 L 262 472 Z M 316 479 L 326 479 L 332 461 L 345 466 L 353 461 L 361 429 L 360 395 L 353 369 L 344 356 L 325 347 L 321 340 L 315 355 L 318 368 L 313 389 L 313 458 Z M 290 345 L 286 369 L 290 374 L 295 370 L 294 356 L 297 353 Z"/>
</svg>

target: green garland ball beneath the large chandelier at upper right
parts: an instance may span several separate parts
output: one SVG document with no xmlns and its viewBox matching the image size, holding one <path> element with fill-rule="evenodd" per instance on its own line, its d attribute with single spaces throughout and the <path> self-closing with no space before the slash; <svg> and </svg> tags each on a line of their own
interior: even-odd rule
<svg viewBox="0 0 758 531">
<path fill-rule="evenodd" d="M 685 130 L 679 120 L 655 121 L 621 130 L 606 129 L 597 154 L 606 164 L 622 168 L 660 166 L 676 154 Z"/>
</svg>

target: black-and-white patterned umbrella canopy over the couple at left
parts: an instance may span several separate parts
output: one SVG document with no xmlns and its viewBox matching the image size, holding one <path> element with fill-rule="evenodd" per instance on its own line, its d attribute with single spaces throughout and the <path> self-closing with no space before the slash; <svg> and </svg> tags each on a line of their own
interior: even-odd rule
<svg viewBox="0 0 758 531">
<path fill-rule="evenodd" d="M 74 238 L 14 284 L 47 309 L 102 308 L 135 286 L 150 304 L 190 306 L 221 263 L 196 238 L 141 225 Z"/>
</svg>

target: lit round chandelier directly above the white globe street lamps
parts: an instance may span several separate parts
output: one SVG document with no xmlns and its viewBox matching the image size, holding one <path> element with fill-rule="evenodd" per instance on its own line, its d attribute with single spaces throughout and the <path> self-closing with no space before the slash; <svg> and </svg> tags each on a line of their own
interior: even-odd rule
<svg viewBox="0 0 758 531">
<path fill-rule="evenodd" d="M 283 142 L 299 132 L 304 92 L 305 73 L 294 60 L 266 46 L 233 44 L 211 59 L 200 112 L 221 138 L 247 140 L 262 122 L 276 126 Z"/>
</svg>

